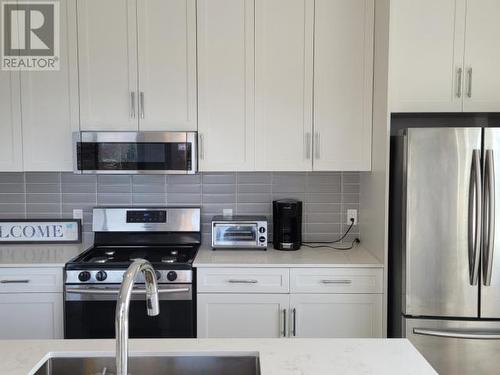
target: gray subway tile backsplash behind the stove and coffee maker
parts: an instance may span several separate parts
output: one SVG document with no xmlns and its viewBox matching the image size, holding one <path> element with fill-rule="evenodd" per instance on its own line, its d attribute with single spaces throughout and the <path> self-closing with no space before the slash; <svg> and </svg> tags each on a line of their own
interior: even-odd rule
<svg viewBox="0 0 500 375">
<path fill-rule="evenodd" d="M 202 206 L 202 231 L 210 238 L 212 216 L 266 215 L 272 200 L 304 203 L 304 239 L 327 241 L 348 228 L 347 209 L 359 210 L 358 172 L 241 172 L 196 175 L 76 175 L 71 172 L 0 173 L 0 218 L 71 217 L 83 210 L 84 236 L 95 206 Z M 270 229 L 272 224 L 270 225 Z M 353 227 L 346 240 L 359 235 Z"/>
</svg>

